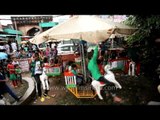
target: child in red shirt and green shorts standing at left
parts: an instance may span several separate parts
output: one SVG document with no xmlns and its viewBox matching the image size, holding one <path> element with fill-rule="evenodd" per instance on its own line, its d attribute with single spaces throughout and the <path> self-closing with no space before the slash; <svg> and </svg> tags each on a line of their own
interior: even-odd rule
<svg viewBox="0 0 160 120">
<path fill-rule="evenodd" d="M 15 75 L 15 68 L 14 65 L 12 64 L 12 60 L 8 61 L 7 65 L 7 70 L 9 71 L 9 79 L 12 81 L 13 86 L 16 88 L 17 87 L 17 80 L 16 80 L 16 75 Z"/>
</svg>

